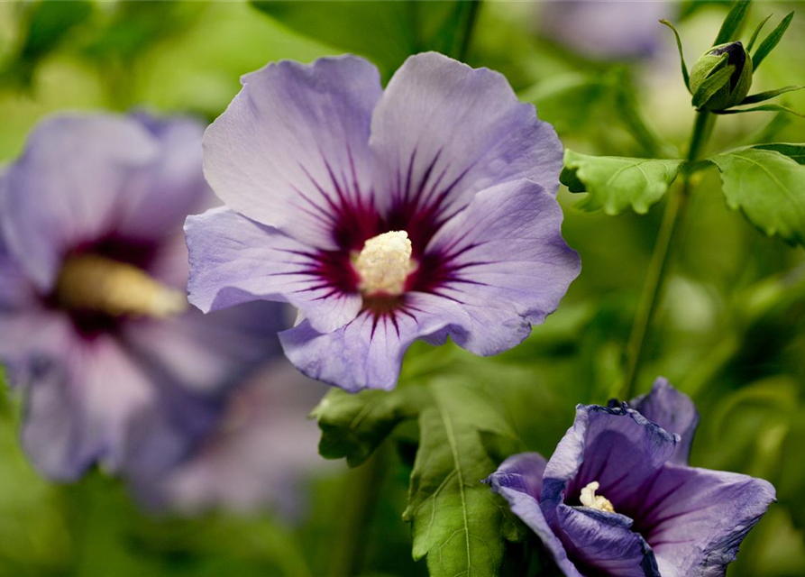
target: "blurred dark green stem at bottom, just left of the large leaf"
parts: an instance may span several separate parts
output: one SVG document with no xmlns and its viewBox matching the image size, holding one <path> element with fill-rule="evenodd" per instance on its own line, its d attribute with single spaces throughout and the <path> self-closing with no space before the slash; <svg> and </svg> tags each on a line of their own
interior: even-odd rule
<svg viewBox="0 0 805 577">
<path fill-rule="evenodd" d="M 378 447 L 366 463 L 346 477 L 346 499 L 333 555 L 328 565 L 330 577 L 352 577 L 361 573 L 369 527 L 380 498 L 380 485 L 385 473 L 383 447 Z"/>
</svg>

